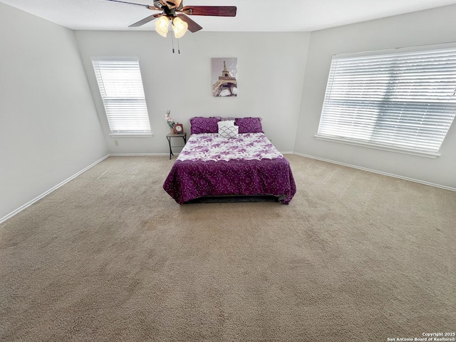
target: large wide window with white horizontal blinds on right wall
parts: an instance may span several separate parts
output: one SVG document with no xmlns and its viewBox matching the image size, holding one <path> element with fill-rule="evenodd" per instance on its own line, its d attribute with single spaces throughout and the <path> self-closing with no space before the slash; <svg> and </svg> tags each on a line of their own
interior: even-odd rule
<svg viewBox="0 0 456 342">
<path fill-rule="evenodd" d="M 435 157 L 455 113 L 456 48 L 333 56 L 316 138 Z"/>
</svg>

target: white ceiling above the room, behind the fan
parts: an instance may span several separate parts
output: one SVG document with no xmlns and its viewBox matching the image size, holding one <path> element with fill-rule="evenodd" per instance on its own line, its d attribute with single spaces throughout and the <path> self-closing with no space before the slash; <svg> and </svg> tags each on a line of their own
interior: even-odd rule
<svg viewBox="0 0 456 342">
<path fill-rule="evenodd" d="M 125 0 L 129 1 L 129 0 Z M 316 31 L 450 4 L 456 0 L 183 0 L 186 6 L 237 6 L 234 18 L 192 16 L 202 31 Z M 0 0 L 73 30 L 151 31 L 128 25 L 160 13 L 107 0 Z M 152 5 L 153 0 L 131 0 Z"/>
</svg>

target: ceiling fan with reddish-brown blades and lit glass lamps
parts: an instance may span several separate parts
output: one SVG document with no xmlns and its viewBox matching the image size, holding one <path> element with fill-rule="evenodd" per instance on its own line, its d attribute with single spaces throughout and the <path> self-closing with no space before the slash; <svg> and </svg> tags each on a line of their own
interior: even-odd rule
<svg viewBox="0 0 456 342">
<path fill-rule="evenodd" d="M 149 21 L 158 19 L 155 22 L 155 31 L 160 36 L 166 37 L 171 21 L 172 31 L 174 31 L 176 38 L 184 36 L 187 29 L 190 32 L 197 32 L 202 29 L 202 26 L 199 26 L 188 16 L 236 16 L 237 11 L 236 6 L 184 6 L 182 0 L 154 0 L 153 6 L 120 0 L 108 1 L 144 6 L 152 11 L 162 11 L 162 13 L 147 16 L 145 19 L 141 19 L 128 27 L 142 26 Z"/>
</svg>

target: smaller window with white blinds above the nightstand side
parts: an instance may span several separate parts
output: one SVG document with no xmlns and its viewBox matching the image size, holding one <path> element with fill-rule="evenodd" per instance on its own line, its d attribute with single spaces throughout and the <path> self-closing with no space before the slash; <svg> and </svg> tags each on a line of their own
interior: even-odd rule
<svg viewBox="0 0 456 342">
<path fill-rule="evenodd" d="M 150 134 L 138 59 L 93 60 L 92 63 L 111 132 Z"/>
</svg>

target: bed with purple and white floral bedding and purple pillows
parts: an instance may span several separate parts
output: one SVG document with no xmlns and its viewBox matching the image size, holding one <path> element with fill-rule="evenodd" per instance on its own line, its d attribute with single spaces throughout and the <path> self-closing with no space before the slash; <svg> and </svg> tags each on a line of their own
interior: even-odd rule
<svg viewBox="0 0 456 342">
<path fill-rule="evenodd" d="M 261 118 L 192 118 L 191 135 L 163 189 L 179 204 L 195 199 L 274 197 L 289 204 L 296 185 L 288 160 L 261 128 Z"/>
</svg>

